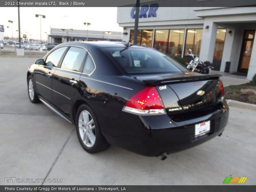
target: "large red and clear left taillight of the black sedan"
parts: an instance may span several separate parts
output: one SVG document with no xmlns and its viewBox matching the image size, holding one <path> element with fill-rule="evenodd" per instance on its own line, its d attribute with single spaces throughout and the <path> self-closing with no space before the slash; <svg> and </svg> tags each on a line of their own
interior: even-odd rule
<svg viewBox="0 0 256 192">
<path fill-rule="evenodd" d="M 140 114 L 164 114 L 164 104 L 156 87 L 146 87 L 133 95 L 125 104 L 124 111 Z"/>
</svg>

